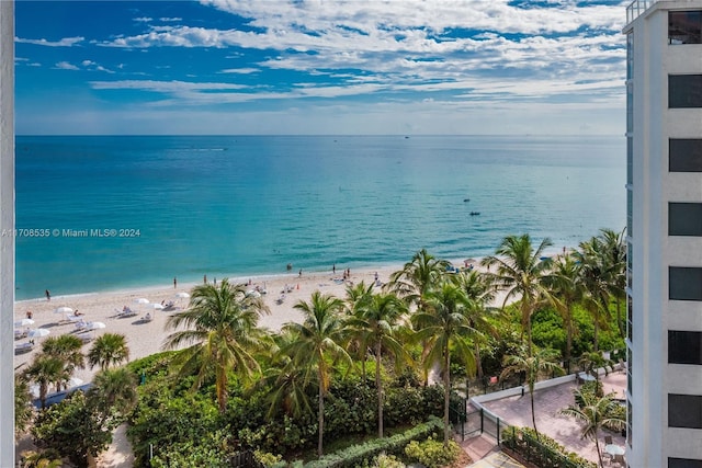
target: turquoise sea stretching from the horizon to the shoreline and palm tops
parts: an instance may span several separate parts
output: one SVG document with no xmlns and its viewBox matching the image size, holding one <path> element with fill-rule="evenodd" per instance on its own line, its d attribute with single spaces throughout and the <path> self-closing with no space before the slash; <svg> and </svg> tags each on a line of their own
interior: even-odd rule
<svg viewBox="0 0 702 468">
<path fill-rule="evenodd" d="M 625 226 L 624 144 L 20 136 L 16 298 L 480 256 L 522 232 L 575 246 Z"/>
</svg>

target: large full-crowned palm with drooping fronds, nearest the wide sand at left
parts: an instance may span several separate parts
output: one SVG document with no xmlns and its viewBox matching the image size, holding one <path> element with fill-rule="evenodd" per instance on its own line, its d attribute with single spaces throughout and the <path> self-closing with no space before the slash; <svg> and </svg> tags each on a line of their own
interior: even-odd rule
<svg viewBox="0 0 702 468">
<path fill-rule="evenodd" d="M 248 379 L 260 370 L 252 353 L 265 342 L 265 333 L 257 326 L 268 312 L 260 297 L 247 295 L 245 285 L 235 286 L 225 278 L 218 285 L 195 286 L 188 310 L 166 322 L 167 330 L 184 328 L 169 334 L 163 347 L 178 350 L 190 344 L 178 353 L 176 364 L 182 374 L 197 373 L 193 389 L 214 372 L 220 412 L 227 408 L 228 372 L 234 369 Z"/>
</svg>

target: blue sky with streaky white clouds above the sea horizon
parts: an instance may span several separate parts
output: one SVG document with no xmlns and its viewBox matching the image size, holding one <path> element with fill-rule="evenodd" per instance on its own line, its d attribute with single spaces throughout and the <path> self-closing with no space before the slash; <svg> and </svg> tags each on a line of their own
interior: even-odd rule
<svg viewBox="0 0 702 468">
<path fill-rule="evenodd" d="M 15 0 L 15 132 L 624 135 L 627 3 Z"/>
</svg>

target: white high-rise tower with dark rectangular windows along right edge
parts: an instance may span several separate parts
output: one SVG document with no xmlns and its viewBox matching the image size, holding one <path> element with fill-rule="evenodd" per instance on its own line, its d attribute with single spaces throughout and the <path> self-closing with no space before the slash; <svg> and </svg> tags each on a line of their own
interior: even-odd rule
<svg viewBox="0 0 702 468">
<path fill-rule="evenodd" d="M 626 13 L 626 460 L 702 468 L 702 0 Z"/>
</svg>

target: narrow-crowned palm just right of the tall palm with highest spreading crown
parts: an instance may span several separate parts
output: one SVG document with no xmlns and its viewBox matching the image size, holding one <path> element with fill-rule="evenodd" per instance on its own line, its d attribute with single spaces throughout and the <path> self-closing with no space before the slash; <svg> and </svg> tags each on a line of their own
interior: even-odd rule
<svg viewBox="0 0 702 468">
<path fill-rule="evenodd" d="M 559 255 L 554 262 L 553 275 L 548 283 L 552 294 L 558 299 L 557 310 L 563 318 L 563 326 L 566 329 L 566 350 L 564 361 L 570 366 L 573 352 L 573 338 L 576 334 L 575 322 L 573 320 L 573 307 L 584 295 L 582 283 L 579 281 L 580 263 L 567 253 Z"/>
</svg>

